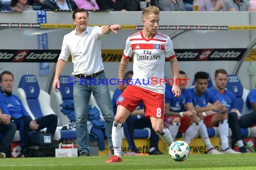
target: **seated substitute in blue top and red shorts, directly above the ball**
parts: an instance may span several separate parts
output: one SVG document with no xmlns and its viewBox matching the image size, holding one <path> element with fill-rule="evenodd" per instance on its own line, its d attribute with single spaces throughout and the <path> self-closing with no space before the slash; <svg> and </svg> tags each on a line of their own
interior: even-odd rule
<svg viewBox="0 0 256 170">
<path fill-rule="evenodd" d="M 181 96 L 179 98 L 174 97 L 170 85 L 166 84 L 165 86 L 163 125 L 169 129 L 173 140 L 177 132 L 185 133 L 184 141 L 190 144 L 199 130 L 200 118 L 194 110 L 190 90 L 185 89 L 187 83 L 186 73 L 180 70 L 179 78 L 182 79 L 179 83 L 181 89 Z"/>
</svg>

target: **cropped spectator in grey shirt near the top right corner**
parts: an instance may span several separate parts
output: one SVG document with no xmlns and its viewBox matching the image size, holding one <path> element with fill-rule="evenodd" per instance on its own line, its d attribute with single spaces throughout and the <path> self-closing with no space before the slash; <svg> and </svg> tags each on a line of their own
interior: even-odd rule
<svg viewBox="0 0 256 170">
<path fill-rule="evenodd" d="M 227 11 L 255 11 L 248 0 L 224 0 Z"/>
</svg>

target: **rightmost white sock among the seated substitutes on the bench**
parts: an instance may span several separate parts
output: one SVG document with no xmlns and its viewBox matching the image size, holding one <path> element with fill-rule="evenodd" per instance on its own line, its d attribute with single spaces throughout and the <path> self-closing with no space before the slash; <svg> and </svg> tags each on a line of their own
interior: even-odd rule
<svg viewBox="0 0 256 170">
<path fill-rule="evenodd" d="M 219 133 L 221 137 L 221 150 L 228 149 L 229 146 L 229 124 L 228 119 L 224 119 L 219 123 Z"/>
</svg>

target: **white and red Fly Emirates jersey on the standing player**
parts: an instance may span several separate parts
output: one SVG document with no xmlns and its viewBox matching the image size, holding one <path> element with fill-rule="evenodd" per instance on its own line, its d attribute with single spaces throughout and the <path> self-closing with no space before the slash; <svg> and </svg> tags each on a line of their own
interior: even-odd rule
<svg viewBox="0 0 256 170">
<path fill-rule="evenodd" d="M 164 79 L 164 62 L 176 57 L 172 40 L 167 35 L 157 31 L 152 38 L 146 39 L 142 31 L 137 32 L 127 38 L 123 56 L 133 57 L 130 85 L 164 94 L 165 83 L 159 83 L 159 79 Z"/>
</svg>

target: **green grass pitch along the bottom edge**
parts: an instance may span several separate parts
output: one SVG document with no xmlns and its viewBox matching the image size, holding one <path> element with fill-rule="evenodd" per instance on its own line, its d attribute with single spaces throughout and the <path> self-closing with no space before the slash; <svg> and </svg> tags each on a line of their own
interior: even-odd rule
<svg viewBox="0 0 256 170">
<path fill-rule="evenodd" d="M 124 162 L 104 163 L 108 157 L 42 157 L 0 159 L 0 170 L 256 170 L 256 153 L 193 154 L 185 162 L 168 155 L 123 156 Z"/>
</svg>

